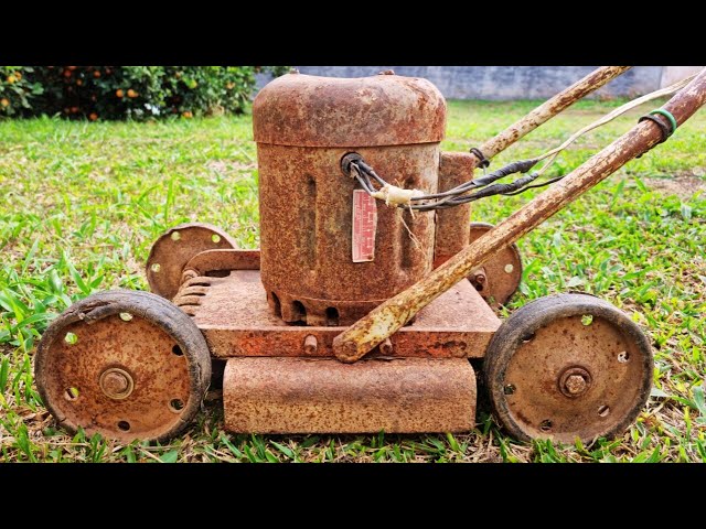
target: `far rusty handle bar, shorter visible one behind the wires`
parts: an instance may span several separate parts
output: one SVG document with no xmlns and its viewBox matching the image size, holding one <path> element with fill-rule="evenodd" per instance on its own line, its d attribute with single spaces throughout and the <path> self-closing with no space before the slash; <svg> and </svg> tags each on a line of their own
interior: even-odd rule
<svg viewBox="0 0 706 529">
<path fill-rule="evenodd" d="M 547 99 L 520 121 L 507 127 L 495 138 L 488 140 L 480 147 L 481 153 L 488 160 L 494 158 L 542 123 L 547 122 L 582 97 L 591 91 L 596 91 L 601 86 L 608 84 L 609 80 L 618 77 L 631 67 L 632 66 L 601 66 L 595 69 L 582 79 L 577 80 L 571 86 L 559 91 L 552 99 Z M 479 160 L 479 162 L 481 160 Z"/>
</svg>

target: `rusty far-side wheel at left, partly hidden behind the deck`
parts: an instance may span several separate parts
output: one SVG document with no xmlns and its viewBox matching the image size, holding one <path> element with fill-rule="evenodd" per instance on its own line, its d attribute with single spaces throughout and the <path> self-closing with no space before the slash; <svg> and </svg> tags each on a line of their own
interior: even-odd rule
<svg viewBox="0 0 706 529">
<path fill-rule="evenodd" d="M 171 300 L 181 285 L 182 271 L 190 259 L 205 250 L 236 249 L 225 231 L 210 224 L 190 223 L 173 227 L 152 245 L 147 259 L 150 290 Z"/>
</svg>

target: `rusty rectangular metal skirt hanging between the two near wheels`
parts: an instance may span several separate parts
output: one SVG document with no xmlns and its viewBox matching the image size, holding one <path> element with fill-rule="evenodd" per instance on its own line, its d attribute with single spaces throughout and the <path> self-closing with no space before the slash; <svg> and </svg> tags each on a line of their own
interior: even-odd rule
<svg viewBox="0 0 706 529">
<path fill-rule="evenodd" d="M 223 410 L 238 433 L 467 432 L 475 376 L 463 358 L 231 358 Z"/>
</svg>

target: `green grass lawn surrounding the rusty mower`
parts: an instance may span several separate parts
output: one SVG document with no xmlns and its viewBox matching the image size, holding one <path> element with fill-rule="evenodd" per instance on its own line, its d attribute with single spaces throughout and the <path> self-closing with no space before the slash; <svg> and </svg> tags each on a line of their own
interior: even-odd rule
<svg viewBox="0 0 706 529">
<path fill-rule="evenodd" d="M 446 150 L 468 150 L 537 101 L 451 101 Z M 619 102 L 582 101 L 493 166 L 558 144 Z M 648 104 L 589 133 L 567 172 L 631 128 Z M 522 444 L 480 409 L 450 435 L 232 435 L 220 402 L 169 445 L 121 445 L 57 430 L 32 377 L 57 313 L 92 292 L 147 290 L 143 263 L 169 227 L 201 220 L 258 246 L 250 116 L 165 123 L 0 121 L 0 461 L 706 461 L 706 111 L 520 241 L 524 282 L 512 311 L 569 290 L 605 298 L 649 334 L 654 389 L 620 439 Z M 535 194 L 541 192 L 536 191 Z M 531 194 L 477 203 L 495 223 Z"/>
</svg>

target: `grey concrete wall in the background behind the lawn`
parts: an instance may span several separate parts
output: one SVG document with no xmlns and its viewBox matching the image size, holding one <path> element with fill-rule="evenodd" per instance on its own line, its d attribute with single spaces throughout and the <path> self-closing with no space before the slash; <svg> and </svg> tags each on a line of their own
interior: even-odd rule
<svg viewBox="0 0 706 529">
<path fill-rule="evenodd" d="M 546 99 L 596 66 L 296 66 L 302 74 L 363 77 L 383 69 L 425 77 L 449 99 Z M 663 66 L 635 66 L 597 91 L 608 97 L 637 96 L 660 88 Z M 261 76 L 264 86 L 269 78 Z"/>
</svg>

